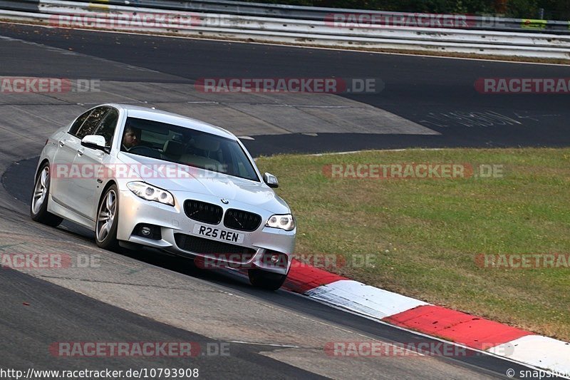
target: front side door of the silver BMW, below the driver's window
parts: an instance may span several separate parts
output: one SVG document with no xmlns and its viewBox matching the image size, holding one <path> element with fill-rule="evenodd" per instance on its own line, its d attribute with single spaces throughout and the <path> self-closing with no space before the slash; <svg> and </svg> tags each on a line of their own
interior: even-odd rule
<svg viewBox="0 0 570 380">
<path fill-rule="evenodd" d="M 82 146 L 81 139 L 86 135 L 95 135 L 95 131 L 110 109 L 108 106 L 94 108 L 72 138 L 75 151 L 70 173 L 73 175 L 70 175 L 68 180 L 66 206 L 71 211 L 91 220 L 93 219 L 90 217 L 90 207 L 92 207 L 93 192 L 97 188 L 95 163 L 101 163 L 105 153 Z"/>
</svg>

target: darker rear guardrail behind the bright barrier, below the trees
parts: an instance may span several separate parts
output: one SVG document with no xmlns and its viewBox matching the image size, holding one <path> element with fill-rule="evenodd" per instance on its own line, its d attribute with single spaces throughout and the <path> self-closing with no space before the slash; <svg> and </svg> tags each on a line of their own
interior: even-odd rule
<svg viewBox="0 0 570 380">
<path fill-rule="evenodd" d="M 71 0 L 82 2 L 84 0 Z M 123 0 L 92 0 L 93 3 L 125 6 Z M 283 4 L 261 4 L 245 1 L 228 0 L 131 0 L 130 6 L 194 11 L 201 13 L 234 14 L 240 16 L 277 17 L 279 19 L 325 21 L 332 14 L 382 15 L 392 18 L 409 17 L 410 13 L 371 11 L 362 9 L 321 8 L 316 6 L 291 6 Z M 430 14 L 415 14 L 432 16 Z M 548 32 L 554 34 L 570 34 L 570 21 L 550 21 L 537 19 L 506 19 L 489 16 L 469 16 L 470 26 L 467 29 L 489 31 Z"/>
</svg>

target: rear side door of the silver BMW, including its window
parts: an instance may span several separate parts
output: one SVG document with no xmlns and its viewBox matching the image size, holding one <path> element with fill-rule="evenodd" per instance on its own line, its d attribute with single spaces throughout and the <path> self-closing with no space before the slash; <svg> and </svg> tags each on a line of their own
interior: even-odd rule
<svg viewBox="0 0 570 380">
<path fill-rule="evenodd" d="M 69 203 L 69 181 L 73 160 L 75 159 L 77 150 L 79 149 L 80 140 L 76 137 L 78 131 L 85 123 L 85 120 L 91 114 L 89 110 L 81 114 L 72 124 L 66 133 L 63 133 L 58 140 L 58 148 L 56 154 L 53 155 L 51 163 L 50 192 L 53 200 L 59 204 L 68 207 Z"/>
</svg>

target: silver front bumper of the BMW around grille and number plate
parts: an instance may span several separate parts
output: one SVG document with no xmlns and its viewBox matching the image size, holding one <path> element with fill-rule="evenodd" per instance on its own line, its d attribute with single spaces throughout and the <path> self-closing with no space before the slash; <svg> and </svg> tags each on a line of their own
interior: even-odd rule
<svg viewBox="0 0 570 380">
<path fill-rule="evenodd" d="M 296 230 L 285 231 L 279 228 L 265 227 L 266 221 L 272 215 L 271 212 L 259 207 L 239 204 L 239 202 L 236 201 L 232 201 L 232 205 L 229 207 L 229 205 L 222 204 L 219 197 L 196 194 L 194 192 L 172 192 L 172 195 L 174 195 L 176 199 L 175 206 L 143 200 L 133 194 L 130 190 L 121 190 L 119 197 L 119 225 L 117 230 L 117 239 L 148 247 L 155 247 L 176 255 L 201 257 L 202 262 L 209 263 L 207 267 L 222 266 L 236 269 L 259 268 L 279 274 L 286 274 L 289 272 L 295 247 Z M 220 222 L 219 225 L 208 225 L 209 227 L 218 228 L 220 230 L 243 234 L 244 240 L 239 244 L 239 247 L 248 249 L 251 254 L 239 256 L 229 254 L 228 252 L 216 252 L 214 254 L 209 252 L 204 255 L 203 253 L 192 251 L 188 245 L 185 245 L 186 249 L 182 249 L 182 247 L 177 244 L 176 237 L 178 237 L 179 242 L 181 241 L 181 235 L 178 234 L 190 237 L 199 237 L 199 239 L 207 239 L 214 242 L 222 242 L 222 240 L 211 239 L 193 233 L 196 224 L 207 224 L 203 222 L 195 222 L 195 220 L 187 217 L 182 207 L 182 204 L 186 199 L 200 200 L 202 202 L 219 205 L 224 210 L 224 214 L 227 209 L 234 208 L 255 212 L 261 215 L 261 225 L 253 232 L 232 230 L 231 228 L 225 227 L 223 222 Z M 152 239 L 150 237 L 138 235 L 138 232 L 135 231 L 135 227 L 140 224 L 157 226 L 160 228 L 160 239 Z M 216 246 L 215 243 L 214 246 Z M 277 253 L 280 254 L 280 257 L 286 257 L 286 260 L 279 260 L 277 264 L 268 260 L 268 256 Z"/>
</svg>

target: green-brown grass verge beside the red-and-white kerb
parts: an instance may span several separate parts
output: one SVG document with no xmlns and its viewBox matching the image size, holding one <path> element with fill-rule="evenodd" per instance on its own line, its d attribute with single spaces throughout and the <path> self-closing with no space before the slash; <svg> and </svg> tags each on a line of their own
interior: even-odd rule
<svg viewBox="0 0 570 380">
<path fill-rule="evenodd" d="M 402 163 L 466 163 L 475 174 L 481 164 L 502 165 L 496 167 L 502 173 L 448 179 L 326 174 L 332 164 Z M 570 149 L 276 155 L 257 164 L 279 177 L 278 193 L 298 221 L 301 260 L 338 255 L 343 260 L 337 265 L 319 264 L 375 287 L 570 341 L 570 263 L 497 269 L 477 259 L 570 252 Z"/>
</svg>

